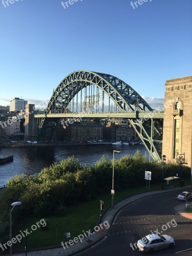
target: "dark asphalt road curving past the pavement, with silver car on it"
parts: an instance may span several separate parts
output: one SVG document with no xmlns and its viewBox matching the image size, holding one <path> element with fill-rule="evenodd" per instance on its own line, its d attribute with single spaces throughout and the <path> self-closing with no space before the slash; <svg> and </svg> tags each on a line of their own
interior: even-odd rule
<svg viewBox="0 0 192 256">
<path fill-rule="evenodd" d="M 154 252 L 163 256 L 191 256 L 192 255 L 192 219 L 182 217 L 174 212 L 177 204 L 185 204 L 176 199 L 182 192 L 168 192 L 152 195 L 129 204 L 114 218 L 108 230 L 106 239 L 82 256 L 141 256 L 134 243 L 143 236 L 162 233 L 175 239 L 175 247 L 165 248 Z M 192 189 L 188 189 L 192 192 Z"/>
</svg>

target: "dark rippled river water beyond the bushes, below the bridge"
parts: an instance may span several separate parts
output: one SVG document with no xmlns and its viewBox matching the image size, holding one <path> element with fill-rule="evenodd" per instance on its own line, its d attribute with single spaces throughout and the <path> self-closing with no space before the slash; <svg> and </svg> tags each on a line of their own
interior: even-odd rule
<svg viewBox="0 0 192 256">
<path fill-rule="evenodd" d="M 149 158 L 148 151 L 139 145 L 66 145 L 58 147 L 26 147 L 0 148 L 0 155 L 13 155 L 13 162 L 0 165 L 0 187 L 16 174 L 35 174 L 52 163 L 60 162 L 69 156 L 79 159 L 79 162 L 93 165 L 103 155 L 113 158 L 113 150 L 121 151 L 115 154 L 115 159 L 125 154 L 134 155 L 140 150 L 141 154 Z"/>
</svg>

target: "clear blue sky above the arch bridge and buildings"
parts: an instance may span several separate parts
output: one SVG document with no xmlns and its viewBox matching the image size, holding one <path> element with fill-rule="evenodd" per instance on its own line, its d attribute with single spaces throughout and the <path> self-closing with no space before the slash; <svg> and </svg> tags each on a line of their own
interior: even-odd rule
<svg viewBox="0 0 192 256">
<path fill-rule="evenodd" d="M 0 105 L 39 105 L 68 74 L 90 70 L 163 108 L 166 79 L 192 75 L 192 0 L 61 2 L 0 0 Z"/>
</svg>

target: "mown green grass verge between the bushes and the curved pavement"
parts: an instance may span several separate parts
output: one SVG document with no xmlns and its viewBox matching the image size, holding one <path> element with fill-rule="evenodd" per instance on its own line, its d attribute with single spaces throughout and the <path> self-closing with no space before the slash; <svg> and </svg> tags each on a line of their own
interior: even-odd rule
<svg viewBox="0 0 192 256">
<path fill-rule="evenodd" d="M 190 183 L 190 179 L 185 179 L 185 185 Z M 150 191 L 161 188 L 162 183 L 150 185 Z M 146 183 L 145 186 L 117 191 L 115 192 L 114 203 L 128 196 L 146 191 L 149 191 L 148 189 L 146 189 Z M 86 231 L 92 229 L 99 220 L 99 200 L 104 201 L 104 209 L 111 206 L 111 194 L 106 193 L 99 195 L 94 200 L 81 202 L 79 204 L 67 207 L 66 215 L 63 217 L 47 217 L 48 224 L 46 230 L 41 230 L 41 228 L 38 228 L 37 230 L 30 233 L 30 235 L 28 235 L 28 250 L 60 246 L 61 241 L 66 241 L 66 239 L 64 239 L 64 233 L 70 232 L 71 239 L 73 239 L 73 237 L 81 234 L 83 230 Z M 41 218 L 29 216 L 22 219 L 21 221 L 18 221 L 17 224 L 15 224 L 13 227 L 12 237 L 17 236 L 18 234 L 20 234 L 20 230 L 23 231 L 26 230 L 26 228 L 30 232 L 31 226 L 36 224 L 40 220 Z M 26 239 L 23 238 L 20 243 L 17 242 L 16 244 L 13 244 L 12 250 L 24 250 L 25 243 Z"/>
</svg>

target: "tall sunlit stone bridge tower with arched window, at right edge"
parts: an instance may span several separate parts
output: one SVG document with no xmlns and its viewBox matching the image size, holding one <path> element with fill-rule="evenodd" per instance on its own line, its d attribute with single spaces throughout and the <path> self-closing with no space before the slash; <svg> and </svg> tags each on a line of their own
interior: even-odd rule
<svg viewBox="0 0 192 256">
<path fill-rule="evenodd" d="M 192 166 L 192 76 L 166 80 L 162 155 Z"/>
</svg>

